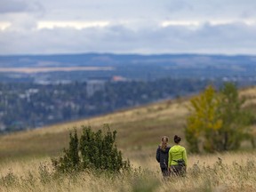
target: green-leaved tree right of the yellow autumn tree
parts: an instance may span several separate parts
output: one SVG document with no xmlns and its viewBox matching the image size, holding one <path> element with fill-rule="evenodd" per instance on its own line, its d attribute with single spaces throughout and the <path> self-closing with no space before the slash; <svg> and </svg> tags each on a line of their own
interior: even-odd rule
<svg viewBox="0 0 256 192">
<path fill-rule="evenodd" d="M 242 140 L 252 139 L 248 125 L 252 124 L 254 117 L 250 111 L 242 109 L 245 100 L 239 98 L 235 84 L 228 83 L 220 89 L 220 100 L 223 125 L 219 131 L 219 150 L 237 149 Z"/>
</svg>

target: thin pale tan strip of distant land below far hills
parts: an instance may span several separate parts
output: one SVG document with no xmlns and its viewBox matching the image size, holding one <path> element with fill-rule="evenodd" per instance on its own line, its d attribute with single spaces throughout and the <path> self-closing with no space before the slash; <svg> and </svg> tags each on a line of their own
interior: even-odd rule
<svg viewBox="0 0 256 192">
<path fill-rule="evenodd" d="M 54 71 L 109 71 L 115 70 L 113 67 L 63 67 L 63 68 L 0 68 L 0 72 L 15 73 L 46 73 Z"/>
</svg>

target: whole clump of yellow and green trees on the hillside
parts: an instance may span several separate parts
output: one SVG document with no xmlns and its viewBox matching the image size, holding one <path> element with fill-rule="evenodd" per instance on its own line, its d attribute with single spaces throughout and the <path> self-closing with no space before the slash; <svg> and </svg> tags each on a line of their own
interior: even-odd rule
<svg viewBox="0 0 256 192">
<path fill-rule="evenodd" d="M 190 152 L 234 150 L 243 140 L 252 140 L 249 125 L 254 116 L 242 107 L 235 84 L 227 83 L 220 92 L 210 85 L 190 100 L 190 114 L 185 129 Z M 201 147 L 201 148 L 200 148 Z"/>
</svg>

